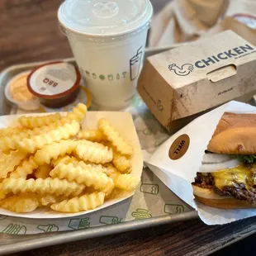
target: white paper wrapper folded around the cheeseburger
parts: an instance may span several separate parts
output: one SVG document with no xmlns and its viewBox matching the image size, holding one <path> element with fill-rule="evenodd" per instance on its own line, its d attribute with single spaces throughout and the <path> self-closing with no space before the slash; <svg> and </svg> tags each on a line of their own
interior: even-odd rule
<svg viewBox="0 0 256 256">
<path fill-rule="evenodd" d="M 191 183 L 201 166 L 204 151 L 221 116 L 225 112 L 256 113 L 256 108 L 241 102 L 229 102 L 215 110 L 206 113 L 192 121 L 182 130 L 179 130 L 169 140 L 157 149 L 147 160 L 149 168 L 169 187 L 178 197 L 186 201 L 198 211 L 198 214 L 207 225 L 220 225 L 256 216 L 255 210 L 221 210 L 202 205 L 194 201 Z M 178 136 L 186 134 L 190 138 L 187 153 L 181 159 L 172 160 L 168 156 L 170 146 Z"/>
</svg>

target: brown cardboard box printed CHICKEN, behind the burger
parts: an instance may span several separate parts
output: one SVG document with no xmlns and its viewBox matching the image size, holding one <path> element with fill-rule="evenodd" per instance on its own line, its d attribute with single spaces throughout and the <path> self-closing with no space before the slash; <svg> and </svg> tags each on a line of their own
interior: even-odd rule
<svg viewBox="0 0 256 256">
<path fill-rule="evenodd" d="M 146 59 L 138 91 L 162 125 L 173 130 L 173 121 L 253 97 L 255 67 L 255 46 L 224 31 Z"/>
</svg>

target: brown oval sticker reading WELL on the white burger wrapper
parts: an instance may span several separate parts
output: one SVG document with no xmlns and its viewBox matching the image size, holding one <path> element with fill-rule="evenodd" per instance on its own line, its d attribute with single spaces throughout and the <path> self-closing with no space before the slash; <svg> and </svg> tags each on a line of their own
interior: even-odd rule
<svg viewBox="0 0 256 256">
<path fill-rule="evenodd" d="M 169 158 L 172 160 L 181 159 L 189 148 L 190 139 L 188 135 L 180 135 L 174 140 L 173 145 L 169 149 Z"/>
</svg>

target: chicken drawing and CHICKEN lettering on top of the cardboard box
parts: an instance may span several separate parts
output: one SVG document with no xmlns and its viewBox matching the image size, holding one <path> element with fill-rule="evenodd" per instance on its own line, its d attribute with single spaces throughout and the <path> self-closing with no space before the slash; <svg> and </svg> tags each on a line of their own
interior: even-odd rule
<svg viewBox="0 0 256 256">
<path fill-rule="evenodd" d="M 255 51 L 255 48 L 251 45 L 241 45 L 231 50 L 220 52 L 217 55 L 206 57 L 205 59 L 198 59 L 194 64 L 170 64 L 168 65 L 168 69 L 178 76 L 187 76 L 192 73 L 194 69 L 205 69 L 212 64 L 225 61 L 225 59 L 239 59 L 245 55 L 250 55 Z"/>
</svg>

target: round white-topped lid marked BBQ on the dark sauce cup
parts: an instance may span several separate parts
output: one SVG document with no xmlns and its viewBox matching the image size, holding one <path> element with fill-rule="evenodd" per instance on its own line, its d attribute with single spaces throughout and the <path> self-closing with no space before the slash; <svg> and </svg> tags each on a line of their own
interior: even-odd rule
<svg viewBox="0 0 256 256">
<path fill-rule="evenodd" d="M 54 62 L 34 69 L 27 78 L 27 86 L 37 97 L 54 99 L 78 89 L 80 73 L 73 64 Z"/>
</svg>

